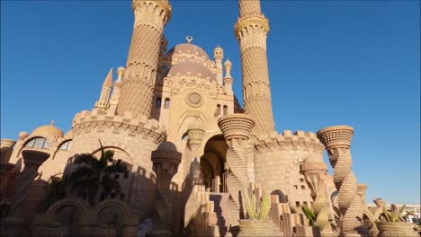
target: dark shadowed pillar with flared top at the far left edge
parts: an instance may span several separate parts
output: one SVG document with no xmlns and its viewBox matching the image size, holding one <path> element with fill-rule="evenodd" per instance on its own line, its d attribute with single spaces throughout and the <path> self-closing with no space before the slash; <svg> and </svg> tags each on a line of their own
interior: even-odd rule
<svg viewBox="0 0 421 237">
<path fill-rule="evenodd" d="M 31 215 L 25 213 L 27 209 L 25 203 L 30 195 L 33 179 L 38 175 L 40 165 L 49 158 L 49 154 L 33 150 L 23 150 L 22 156 L 25 167 L 14 180 L 17 187 L 13 193 L 11 216 L 4 218 L 2 223 L 4 236 L 8 237 L 22 236 L 25 232 L 27 224 L 25 216 Z"/>
</svg>

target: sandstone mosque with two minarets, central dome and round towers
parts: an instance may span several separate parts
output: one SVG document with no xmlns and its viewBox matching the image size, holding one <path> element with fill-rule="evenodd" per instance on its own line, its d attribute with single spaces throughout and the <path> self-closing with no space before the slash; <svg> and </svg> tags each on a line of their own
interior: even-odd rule
<svg viewBox="0 0 421 237">
<path fill-rule="evenodd" d="M 67 236 L 84 236 L 107 216 L 115 217 L 117 236 L 139 235 L 139 224 L 148 219 L 153 219 L 151 236 L 236 236 L 237 220 L 245 215 L 240 194 L 249 187 L 271 193 L 274 236 L 313 236 L 303 205 L 313 207 L 323 236 L 363 236 L 375 229 L 370 223 L 380 207 L 368 209 L 367 186 L 352 171 L 352 127 L 327 127 L 317 134 L 274 130 L 269 22 L 260 1 L 239 0 L 234 27 L 244 108 L 232 90 L 240 79 L 230 75 L 222 48 L 211 58 L 188 37 L 167 50 L 163 31 L 171 4 L 134 0 L 132 8 L 127 64 L 110 70 L 94 108 L 77 113 L 66 134 L 51 122 L 31 134 L 21 132 L 16 142 L 2 141 L 2 206 L 11 205 L 2 215 L 23 216 L 31 222 L 25 230 L 38 236 L 54 220 L 71 226 Z M 75 154 L 99 155 L 98 140 L 114 151 L 114 160 L 130 167 L 129 175 L 113 177 L 121 192 L 109 197 L 99 192 L 95 206 L 84 197 L 69 197 L 37 212 L 43 195 L 32 180 L 66 174 Z M 327 173 L 325 150 L 334 175 Z M 19 181 L 21 188 L 13 188 Z"/>
</svg>

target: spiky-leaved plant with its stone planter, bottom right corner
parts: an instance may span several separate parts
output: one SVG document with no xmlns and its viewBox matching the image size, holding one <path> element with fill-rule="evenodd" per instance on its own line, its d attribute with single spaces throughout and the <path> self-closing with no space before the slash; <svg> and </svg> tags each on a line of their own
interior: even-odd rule
<svg viewBox="0 0 421 237">
<path fill-rule="evenodd" d="M 418 233 L 414 231 L 412 224 L 406 223 L 402 213 L 405 206 L 400 209 L 394 204 L 390 206 L 390 211 L 383 206 L 383 213 L 381 214 L 381 221 L 377 222 L 379 229 L 378 237 L 389 236 L 408 236 L 419 237 Z"/>
</svg>

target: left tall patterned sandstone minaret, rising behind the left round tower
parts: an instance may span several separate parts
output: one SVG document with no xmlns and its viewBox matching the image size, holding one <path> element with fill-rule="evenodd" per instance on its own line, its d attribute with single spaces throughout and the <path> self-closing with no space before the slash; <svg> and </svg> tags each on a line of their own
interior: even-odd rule
<svg viewBox="0 0 421 237">
<path fill-rule="evenodd" d="M 160 40 L 171 17 L 168 0 L 133 0 L 135 17 L 117 113 L 150 116 Z"/>
</svg>

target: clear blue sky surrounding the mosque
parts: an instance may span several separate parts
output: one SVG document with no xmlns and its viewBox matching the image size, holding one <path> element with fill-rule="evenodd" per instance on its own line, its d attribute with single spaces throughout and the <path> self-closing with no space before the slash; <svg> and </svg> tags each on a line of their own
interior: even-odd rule
<svg viewBox="0 0 421 237">
<path fill-rule="evenodd" d="M 218 44 L 241 70 L 237 1 L 172 1 L 169 46 Z M 1 2 L 1 136 L 55 119 L 65 131 L 97 101 L 110 67 L 124 66 L 130 1 Z M 367 199 L 420 202 L 418 1 L 264 1 L 276 129 L 355 129 L 354 173 Z"/>
</svg>

